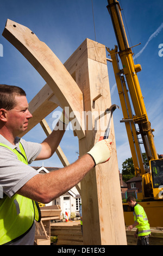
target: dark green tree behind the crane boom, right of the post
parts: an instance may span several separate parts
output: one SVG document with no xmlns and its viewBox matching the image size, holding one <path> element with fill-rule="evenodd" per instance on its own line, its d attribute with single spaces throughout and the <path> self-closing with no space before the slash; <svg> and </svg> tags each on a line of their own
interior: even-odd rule
<svg viewBox="0 0 163 256">
<path fill-rule="evenodd" d="M 143 162 L 145 164 L 145 169 L 148 169 L 149 163 L 148 163 L 146 153 L 142 153 L 142 157 L 143 157 Z M 127 180 L 133 178 L 134 176 L 135 176 L 134 163 L 133 163 L 132 157 L 130 157 L 122 163 L 122 179 L 124 182 L 126 182 Z"/>
</svg>

